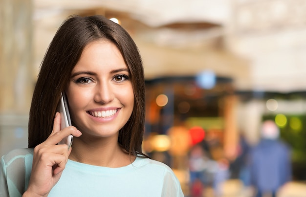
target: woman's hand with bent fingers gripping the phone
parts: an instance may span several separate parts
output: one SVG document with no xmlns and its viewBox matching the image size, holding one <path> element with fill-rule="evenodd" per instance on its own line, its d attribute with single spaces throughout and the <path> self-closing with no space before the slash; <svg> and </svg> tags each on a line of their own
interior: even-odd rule
<svg viewBox="0 0 306 197">
<path fill-rule="evenodd" d="M 47 196 L 60 179 L 71 153 L 66 144 L 57 145 L 64 137 L 72 134 L 81 136 L 81 131 L 70 126 L 60 131 L 61 115 L 56 113 L 50 136 L 34 148 L 33 166 L 28 189 L 25 196 Z"/>
</svg>

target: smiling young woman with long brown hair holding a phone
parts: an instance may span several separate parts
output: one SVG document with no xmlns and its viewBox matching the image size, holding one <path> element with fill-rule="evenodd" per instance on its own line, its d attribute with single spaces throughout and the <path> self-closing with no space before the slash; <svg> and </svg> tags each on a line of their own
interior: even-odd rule
<svg viewBox="0 0 306 197">
<path fill-rule="evenodd" d="M 61 93 L 72 125 L 61 130 Z M 1 159 L 0 196 L 183 197 L 173 171 L 141 151 L 145 88 L 130 35 L 103 16 L 69 17 L 45 54 L 29 148 Z M 71 148 L 58 144 L 74 136 Z"/>
</svg>

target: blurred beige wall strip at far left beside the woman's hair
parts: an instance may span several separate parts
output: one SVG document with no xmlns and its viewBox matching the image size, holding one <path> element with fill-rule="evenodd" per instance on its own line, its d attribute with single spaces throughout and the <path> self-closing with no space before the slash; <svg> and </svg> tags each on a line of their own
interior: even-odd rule
<svg viewBox="0 0 306 197">
<path fill-rule="evenodd" d="M 27 146 L 32 73 L 32 1 L 0 0 L 0 154 Z"/>
</svg>

